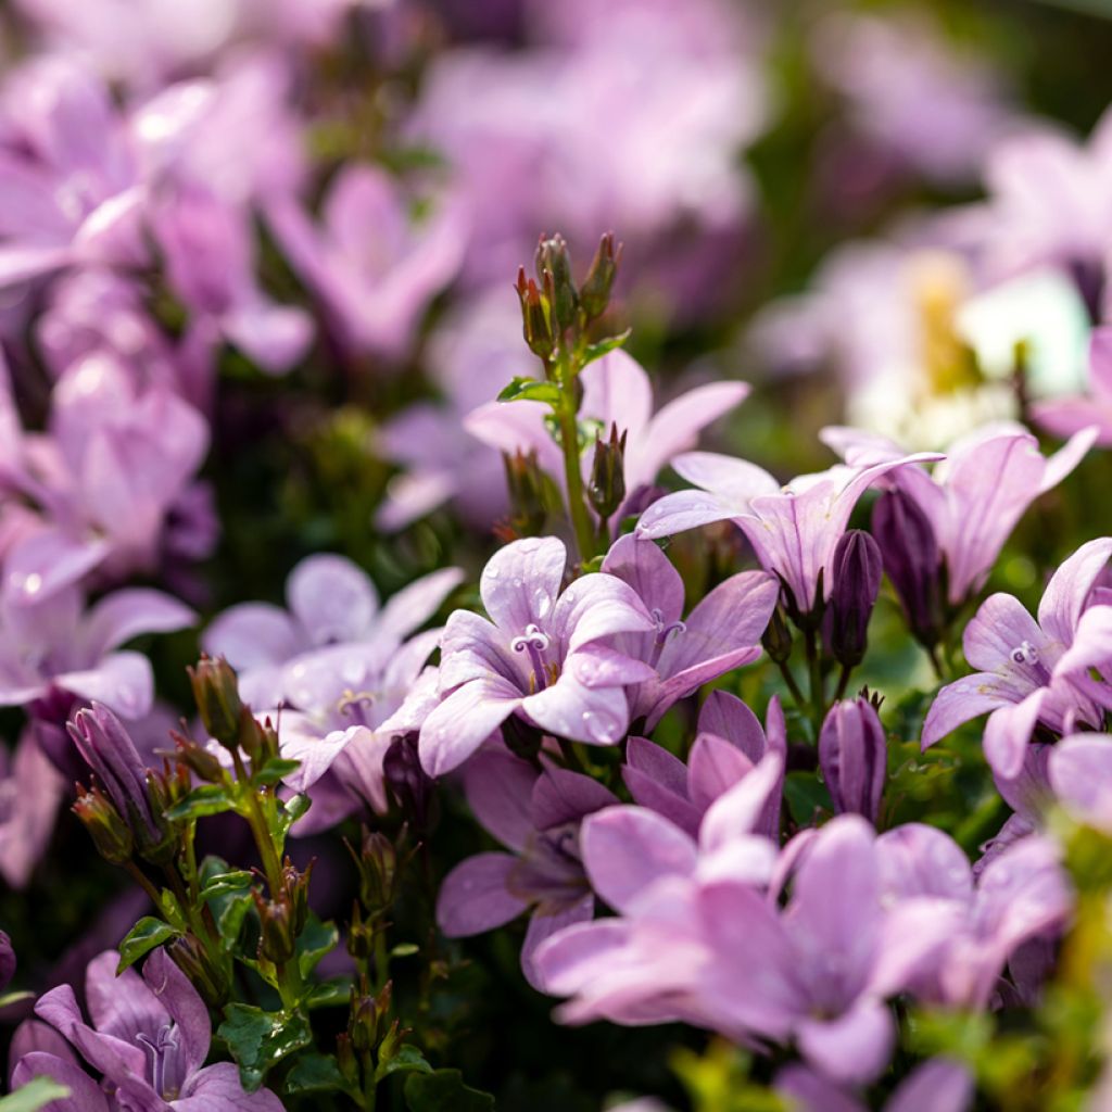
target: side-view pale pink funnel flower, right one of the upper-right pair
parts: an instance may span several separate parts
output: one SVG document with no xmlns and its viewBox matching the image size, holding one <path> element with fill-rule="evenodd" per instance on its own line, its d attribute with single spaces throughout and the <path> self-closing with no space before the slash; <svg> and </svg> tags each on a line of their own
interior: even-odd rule
<svg viewBox="0 0 1112 1112">
<path fill-rule="evenodd" d="M 981 588 L 1026 508 L 1081 463 L 1095 437 L 1096 430 L 1089 427 L 1044 457 L 1023 426 L 996 421 L 954 441 L 933 475 L 902 467 L 885 480 L 931 523 L 953 605 Z M 877 467 L 902 457 L 891 440 L 858 429 L 827 428 L 822 439 L 854 466 Z"/>
</svg>

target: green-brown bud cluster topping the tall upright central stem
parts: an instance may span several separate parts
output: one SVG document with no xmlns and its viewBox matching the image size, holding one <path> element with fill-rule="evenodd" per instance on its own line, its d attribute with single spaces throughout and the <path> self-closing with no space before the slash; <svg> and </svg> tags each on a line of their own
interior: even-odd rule
<svg viewBox="0 0 1112 1112">
<path fill-rule="evenodd" d="M 560 235 L 542 236 L 534 257 L 536 278 L 525 267 L 517 272 L 518 300 L 525 342 L 538 358 L 550 363 L 569 337 L 578 339 L 605 311 L 622 260 L 622 245 L 613 232 L 599 241 L 583 285 L 572 278 L 572 256 Z"/>
</svg>

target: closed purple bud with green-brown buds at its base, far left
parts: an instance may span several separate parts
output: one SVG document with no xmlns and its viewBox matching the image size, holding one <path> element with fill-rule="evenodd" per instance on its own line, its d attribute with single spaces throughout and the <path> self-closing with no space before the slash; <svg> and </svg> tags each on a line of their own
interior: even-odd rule
<svg viewBox="0 0 1112 1112">
<path fill-rule="evenodd" d="M 172 857 L 175 835 L 165 813 L 188 782 L 148 768 L 123 724 L 99 703 L 78 711 L 69 733 L 96 777 L 88 788 L 78 785 L 73 812 L 101 855 L 115 864 L 135 853 L 157 864 Z"/>
</svg>

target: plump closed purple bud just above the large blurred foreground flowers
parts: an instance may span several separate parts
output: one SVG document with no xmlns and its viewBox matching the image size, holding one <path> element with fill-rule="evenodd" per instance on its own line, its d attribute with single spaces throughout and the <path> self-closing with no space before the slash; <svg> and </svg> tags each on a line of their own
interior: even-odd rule
<svg viewBox="0 0 1112 1112">
<path fill-rule="evenodd" d="M 887 753 L 884 727 L 872 703 L 852 698 L 831 707 L 818 734 L 818 764 L 835 812 L 876 822 Z"/>
</svg>

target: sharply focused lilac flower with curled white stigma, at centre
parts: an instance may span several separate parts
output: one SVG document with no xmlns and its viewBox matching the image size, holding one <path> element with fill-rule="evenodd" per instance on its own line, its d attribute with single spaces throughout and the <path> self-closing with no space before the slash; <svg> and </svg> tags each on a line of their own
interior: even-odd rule
<svg viewBox="0 0 1112 1112">
<path fill-rule="evenodd" d="M 464 763 L 512 714 L 572 741 L 613 745 L 625 735 L 625 688 L 653 679 L 648 665 L 605 642 L 656 629 L 636 593 L 613 575 L 560 592 L 567 553 L 554 537 L 516 540 L 483 570 L 488 618 L 456 610 L 440 644 L 443 702 L 425 719 L 429 775 Z"/>
</svg>

